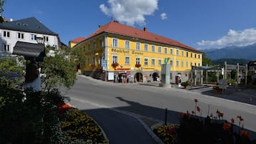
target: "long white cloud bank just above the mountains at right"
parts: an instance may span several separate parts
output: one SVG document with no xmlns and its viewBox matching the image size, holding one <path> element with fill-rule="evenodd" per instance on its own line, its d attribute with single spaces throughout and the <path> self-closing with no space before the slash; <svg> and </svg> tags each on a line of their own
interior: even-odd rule
<svg viewBox="0 0 256 144">
<path fill-rule="evenodd" d="M 216 41 L 205 41 L 197 42 L 199 46 L 206 48 L 220 48 L 227 46 L 246 46 L 254 44 L 256 42 L 256 29 L 244 29 L 242 31 L 235 31 L 229 29 L 227 35 L 217 39 Z"/>
</svg>

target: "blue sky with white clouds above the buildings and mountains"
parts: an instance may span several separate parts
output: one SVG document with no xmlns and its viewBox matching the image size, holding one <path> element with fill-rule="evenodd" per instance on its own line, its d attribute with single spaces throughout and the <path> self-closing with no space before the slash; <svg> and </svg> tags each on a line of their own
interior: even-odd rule
<svg viewBox="0 0 256 144">
<path fill-rule="evenodd" d="M 65 44 L 113 20 L 195 49 L 256 43 L 255 0 L 6 0 L 6 19 L 34 16 Z"/>
</svg>

